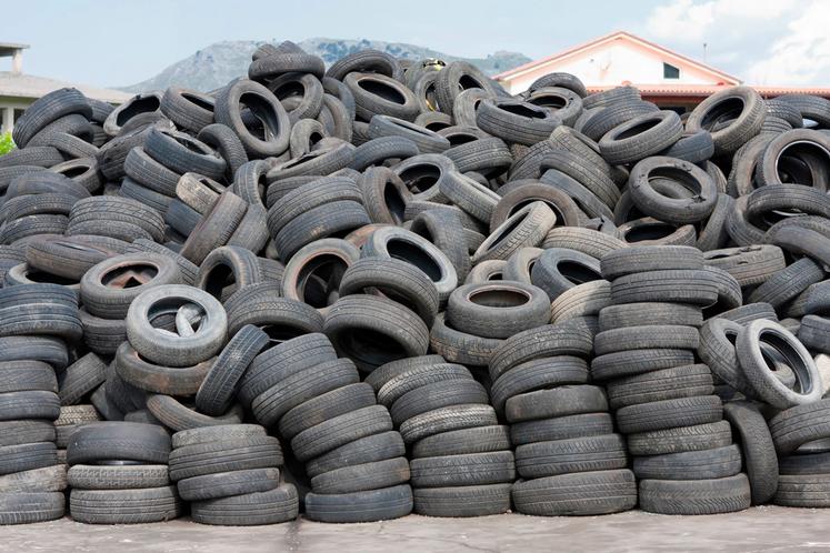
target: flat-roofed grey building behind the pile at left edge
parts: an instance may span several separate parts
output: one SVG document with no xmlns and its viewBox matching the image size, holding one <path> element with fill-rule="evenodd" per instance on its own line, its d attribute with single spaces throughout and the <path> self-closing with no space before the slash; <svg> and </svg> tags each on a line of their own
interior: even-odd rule
<svg viewBox="0 0 830 553">
<path fill-rule="evenodd" d="M 28 44 L 0 42 L 0 58 L 11 58 L 11 71 L 0 71 L 0 114 L 2 127 L 0 132 L 11 132 L 14 121 L 23 114 L 23 110 L 38 98 L 52 90 L 73 87 L 88 98 L 118 104 L 127 101 L 132 94 L 118 90 L 99 89 L 56 81 L 43 77 L 23 73 L 23 50 Z"/>
</svg>

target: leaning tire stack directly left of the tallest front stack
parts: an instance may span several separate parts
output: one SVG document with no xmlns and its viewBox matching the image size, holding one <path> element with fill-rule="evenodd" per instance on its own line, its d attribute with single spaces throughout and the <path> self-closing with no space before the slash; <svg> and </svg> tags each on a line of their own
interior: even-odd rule
<svg viewBox="0 0 830 553">
<path fill-rule="evenodd" d="M 589 385 L 594 316 L 507 339 L 490 360 L 492 402 L 510 423 L 522 480 L 520 513 L 602 514 L 637 504 L 626 444 L 613 433 L 601 388 Z"/>
</svg>

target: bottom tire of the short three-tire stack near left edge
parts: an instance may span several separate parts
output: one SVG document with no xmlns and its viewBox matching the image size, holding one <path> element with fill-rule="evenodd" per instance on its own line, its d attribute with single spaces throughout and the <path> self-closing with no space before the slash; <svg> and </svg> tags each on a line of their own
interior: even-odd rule
<svg viewBox="0 0 830 553">
<path fill-rule="evenodd" d="M 141 490 L 72 490 L 69 510 L 76 522 L 137 524 L 166 522 L 181 515 L 176 486 Z"/>
</svg>

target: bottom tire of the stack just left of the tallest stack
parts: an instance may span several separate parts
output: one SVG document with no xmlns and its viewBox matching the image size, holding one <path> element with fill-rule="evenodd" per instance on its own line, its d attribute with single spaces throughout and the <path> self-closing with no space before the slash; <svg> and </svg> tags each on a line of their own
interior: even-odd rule
<svg viewBox="0 0 830 553">
<path fill-rule="evenodd" d="M 637 483 L 629 470 L 561 474 L 517 482 L 512 496 L 522 514 L 609 514 L 634 507 Z"/>
</svg>

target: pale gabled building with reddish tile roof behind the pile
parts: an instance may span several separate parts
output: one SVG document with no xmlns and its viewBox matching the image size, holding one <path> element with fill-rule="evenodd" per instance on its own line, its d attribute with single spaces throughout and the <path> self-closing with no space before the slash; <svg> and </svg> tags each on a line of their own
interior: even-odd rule
<svg viewBox="0 0 830 553">
<path fill-rule="evenodd" d="M 548 73 L 579 77 L 589 92 L 631 84 L 643 100 L 686 111 L 704 98 L 740 84 L 737 77 L 687 58 L 629 32 L 618 31 L 496 76 L 511 93 L 522 92 Z M 764 98 L 788 93 L 830 98 L 830 89 L 754 87 Z"/>
</svg>

